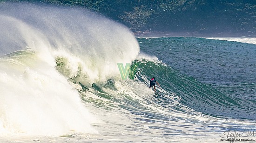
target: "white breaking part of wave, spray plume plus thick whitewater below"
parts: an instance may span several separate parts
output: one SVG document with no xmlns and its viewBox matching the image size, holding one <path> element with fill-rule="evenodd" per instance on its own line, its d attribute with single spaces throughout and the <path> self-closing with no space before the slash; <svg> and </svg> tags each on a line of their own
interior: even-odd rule
<svg viewBox="0 0 256 143">
<path fill-rule="evenodd" d="M 67 78 L 84 85 L 119 78 L 117 63 L 139 53 L 133 34 L 81 9 L 0 9 L 0 133 L 97 133 L 90 125 L 96 119 Z"/>
</svg>

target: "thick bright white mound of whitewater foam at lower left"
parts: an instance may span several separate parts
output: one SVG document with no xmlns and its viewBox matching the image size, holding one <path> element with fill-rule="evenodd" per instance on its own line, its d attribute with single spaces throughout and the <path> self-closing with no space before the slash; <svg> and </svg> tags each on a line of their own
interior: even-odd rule
<svg viewBox="0 0 256 143">
<path fill-rule="evenodd" d="M 15 70 L 15 64 L 0 69 L 0 133 L 97 133 L 90 126 L 96 119 L 81 104 L 77 91 L 47 63 L 36 57 L 34 62 L 37 65 L 29 67 L 23 62 L 24 71 Z"/>
</svg>

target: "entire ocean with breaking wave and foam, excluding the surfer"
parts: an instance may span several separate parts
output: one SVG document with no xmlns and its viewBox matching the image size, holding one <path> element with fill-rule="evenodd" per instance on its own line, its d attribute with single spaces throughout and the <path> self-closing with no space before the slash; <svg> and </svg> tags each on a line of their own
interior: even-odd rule
<svg viewBox="0 0 256 143">
<path fill-rule="evenodd" d="M 27 4 L 1 4 L 0 27 L 0 143 L 256 140 L 256 38 L 135 37 Z"/>
</svg>

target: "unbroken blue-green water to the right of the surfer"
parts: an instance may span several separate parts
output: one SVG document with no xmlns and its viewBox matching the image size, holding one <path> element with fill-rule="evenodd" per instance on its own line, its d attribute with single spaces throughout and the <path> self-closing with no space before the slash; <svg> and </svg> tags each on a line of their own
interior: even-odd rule
<svg viewBox="0 0 256 143">
<path fill-rule="evenodd" d="M 184 105 L 213 116 L 256 119 L 255 44 L 198 37 L 138 41 L 141 52 L 167 64 L 147 62 L 143 74 L 156 76 Z"/>
</svg>

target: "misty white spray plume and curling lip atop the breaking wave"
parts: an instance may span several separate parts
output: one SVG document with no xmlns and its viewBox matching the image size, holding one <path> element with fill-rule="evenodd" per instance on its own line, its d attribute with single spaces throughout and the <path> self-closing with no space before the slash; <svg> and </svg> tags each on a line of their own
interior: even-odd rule
<svg viewBox="0 0 256 143">
<path fill-rule="evenodd" d="M 82 9 L 13 4 L 0 17 L 9 31 L 0 30 L 0 55 L 29 47 L 52 66 L 52 58 L 66 59 L 71 74 L 81 70 L 91 83 L 119 75 L 117 63 L 131 63 L 140 52 L 128 28 Z"/>
</svg>

